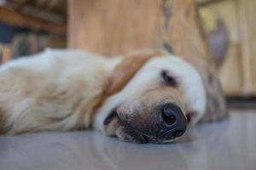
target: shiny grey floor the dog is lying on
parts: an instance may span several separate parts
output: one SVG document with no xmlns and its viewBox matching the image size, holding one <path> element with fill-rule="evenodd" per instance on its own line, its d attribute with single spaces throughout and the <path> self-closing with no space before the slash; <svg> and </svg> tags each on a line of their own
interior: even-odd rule
<svg viewBox="0 0 256 170">
<path fill-rule="evenodd" d="M 93 132 L 0 137 L 0 169 L 255 170 L 256 111 L 194 127 L 185 141 L 129 144 Z"/>
</svg>

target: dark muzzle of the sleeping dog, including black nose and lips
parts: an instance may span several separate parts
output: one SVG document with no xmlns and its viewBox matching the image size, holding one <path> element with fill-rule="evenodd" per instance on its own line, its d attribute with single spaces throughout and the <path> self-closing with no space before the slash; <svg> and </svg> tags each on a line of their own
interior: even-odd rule
<svg viewBox="0 0 256 170">
<path fill-rule="evenodd" d="M 149 116 L 127 116 L 121 112 L 118 112 L 118 116 L 124 124 L 124 133 L 129 133 L 137 143 L 169 142 L 182 136 L 188 124 L 180 107 L 172 103 L 158 105 Z"/>
</svg>

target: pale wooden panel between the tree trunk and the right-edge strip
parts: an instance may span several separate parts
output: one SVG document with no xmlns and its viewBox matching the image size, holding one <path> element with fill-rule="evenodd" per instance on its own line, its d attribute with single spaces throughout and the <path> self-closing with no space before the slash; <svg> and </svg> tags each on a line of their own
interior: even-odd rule
<svg viewBox="0 0 256 170">
<path fill-rule="evenodd" d="M 237 95 L 242 90 L 242 64 L 241 64 L 241 40 L 239 36 L 239 22 L 237 15 L 237 3 L 235 1 L 222 1 L 211 3 L 201 10 L 207 10 L 215 17 L 224 20 L 230 37 L 230 48 L 224 64 L 218 71 L 225 94 Z"/>
</svg>

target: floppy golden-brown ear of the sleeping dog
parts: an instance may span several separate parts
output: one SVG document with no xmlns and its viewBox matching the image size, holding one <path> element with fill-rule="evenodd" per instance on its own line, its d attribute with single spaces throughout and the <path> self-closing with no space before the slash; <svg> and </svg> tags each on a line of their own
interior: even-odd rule
<svg viewBox="0 0 256 170">
<path fill-rule="evenodd" d="M 109 78 L 106 94 L 112 95 L 119 92 L 149 59 L 160 57 L 164 54 L 167 53 L 162 50 L 154 50 L 125 56 L 121 63 L 113 70 L 113 74 Z"/>
</svg>

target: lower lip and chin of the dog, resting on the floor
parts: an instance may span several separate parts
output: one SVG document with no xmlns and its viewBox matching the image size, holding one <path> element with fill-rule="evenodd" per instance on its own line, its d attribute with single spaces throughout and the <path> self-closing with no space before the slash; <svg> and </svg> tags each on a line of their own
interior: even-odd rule
<svg viewBox="0 0 256 170">
<path fill-rule="evenodd" d="M 108 136 L 117 136 L 125 142 L 137 144 L 165 144 L 171 143 L 174 139 L 159 139 L 141 133 L 137 129 L 133 129 L 125 125 L 115 111 L 110 113 L 104 122 L 104 131 Z"/>
</svg>

